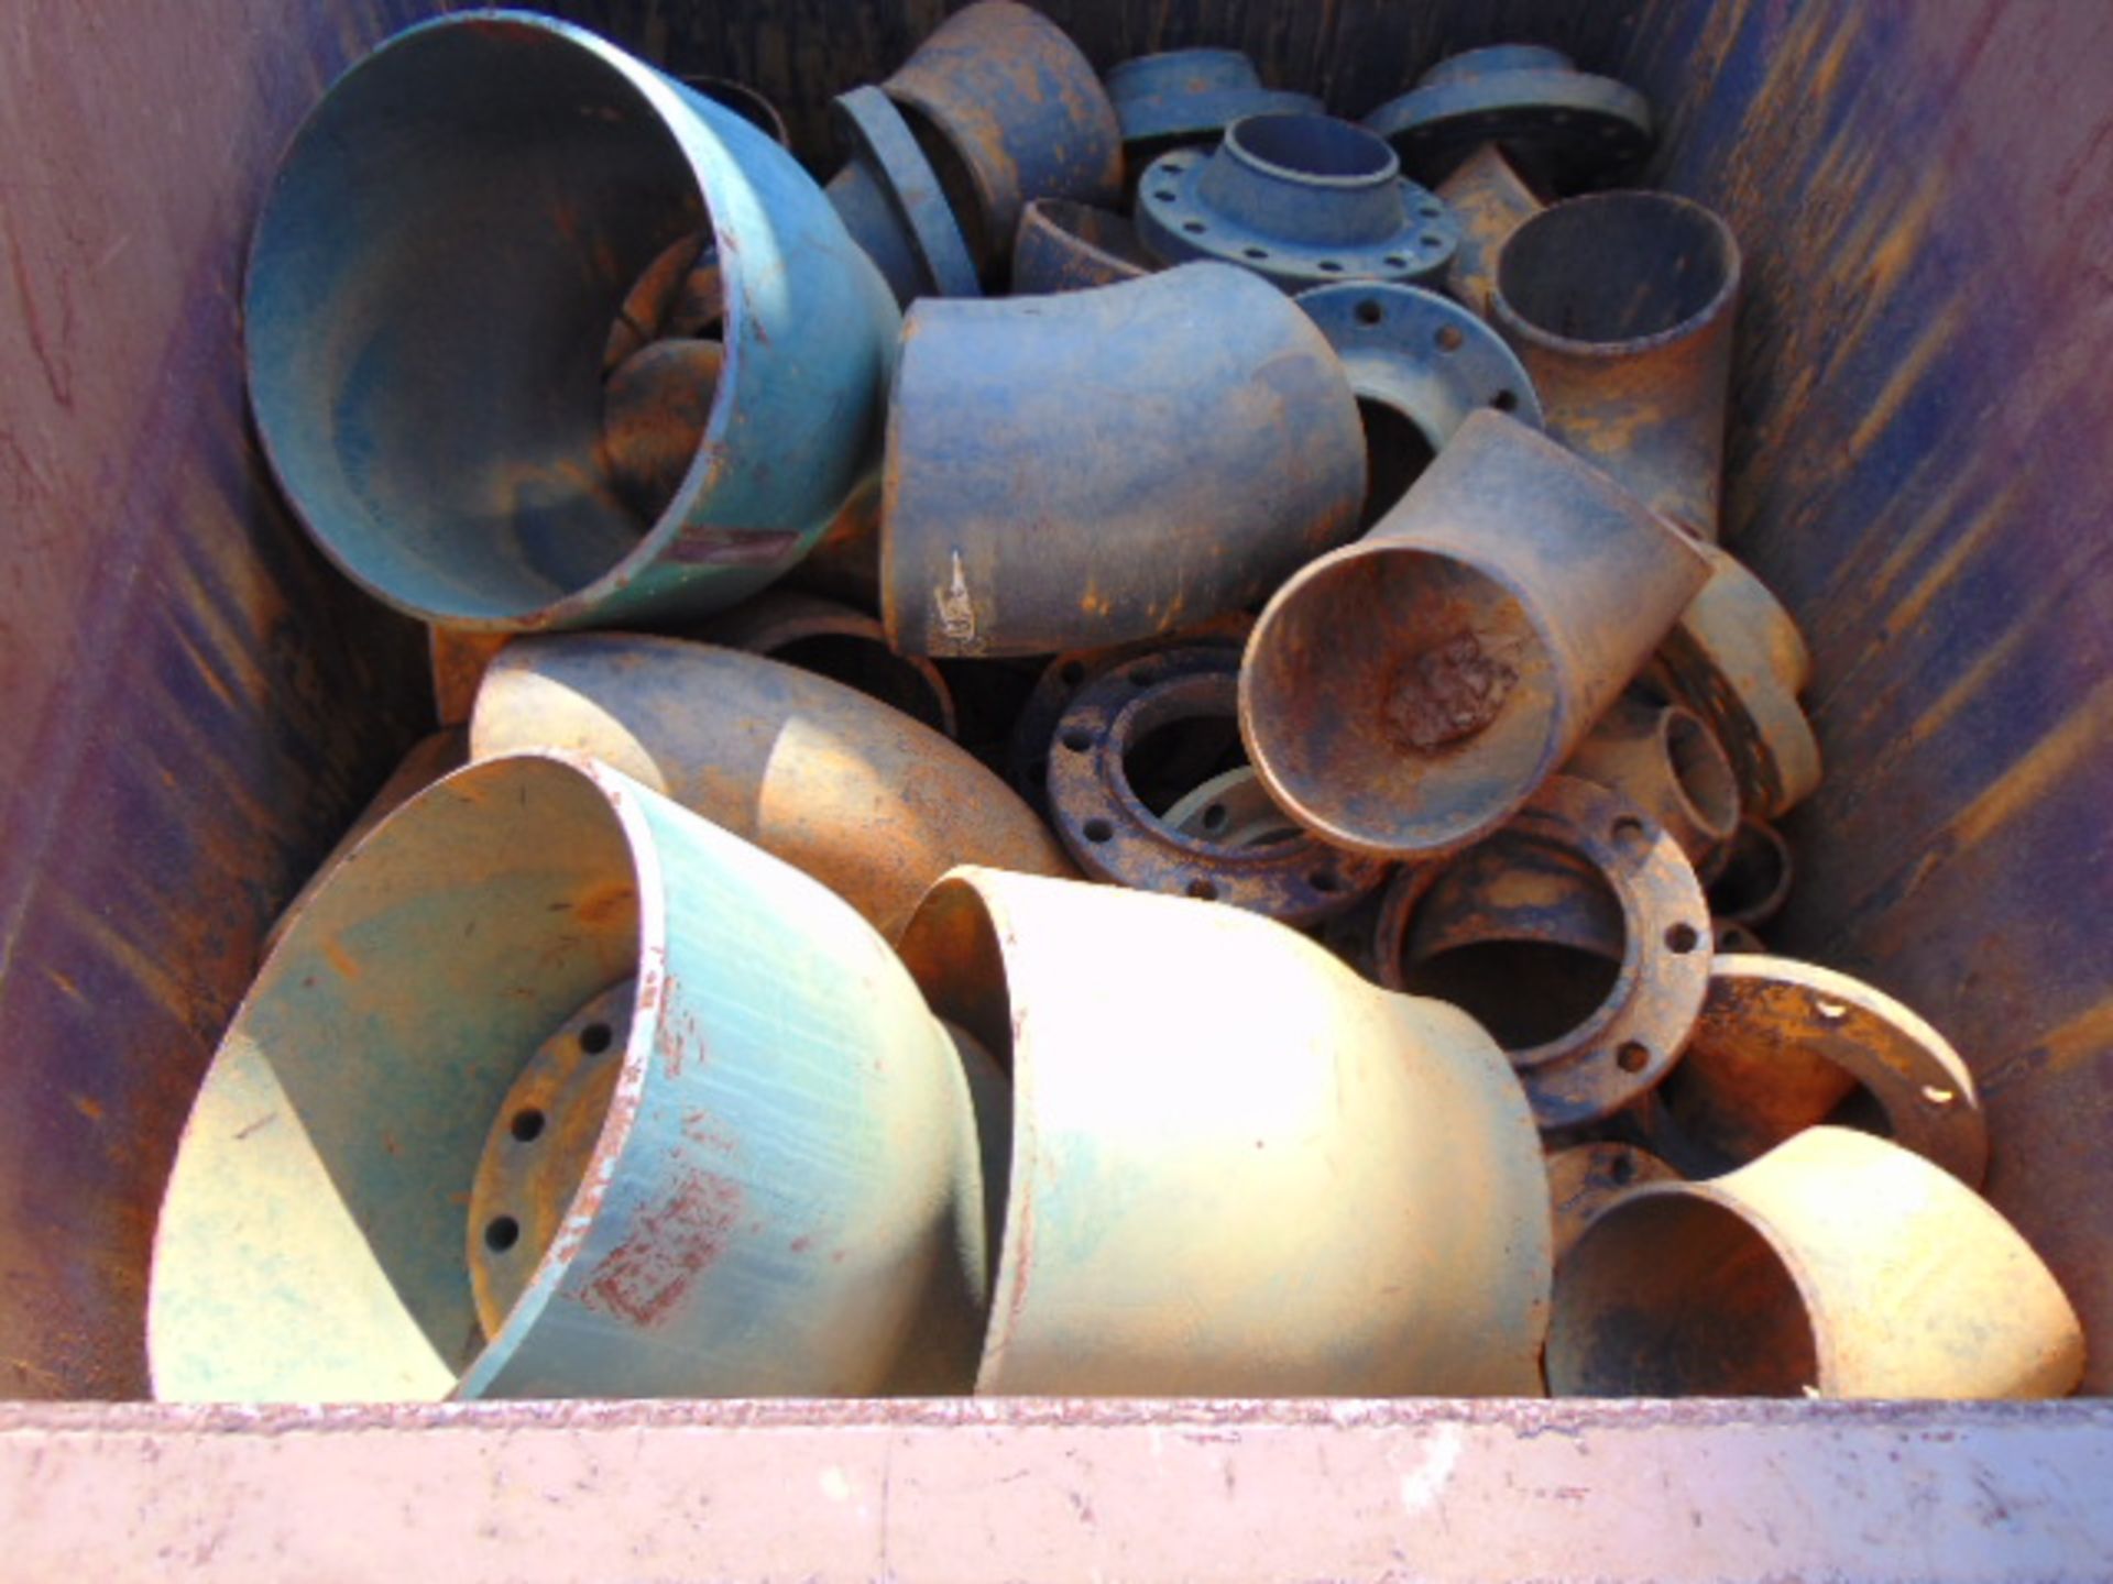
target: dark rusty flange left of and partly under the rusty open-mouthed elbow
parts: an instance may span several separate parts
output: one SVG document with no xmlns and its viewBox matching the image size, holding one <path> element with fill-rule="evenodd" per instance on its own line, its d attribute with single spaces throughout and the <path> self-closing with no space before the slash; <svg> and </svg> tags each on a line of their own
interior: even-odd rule
<svg viewBox="0 0 2113 1584">
<path fill-rule="evenodd" d="M 1238 676 L 1236 653 L 1196 648 L 1126 661 L 1080 689 L 1050 746 L 1050 822 L 1099 881 L 1319 923 L 1378 889 L 1388 864 L 1306 832 L 1259 845 L 1183 834 L 1137 796 L 1124 767 L 1130 748 L 1162 727 L 1234 722 Z"/>
</svg>

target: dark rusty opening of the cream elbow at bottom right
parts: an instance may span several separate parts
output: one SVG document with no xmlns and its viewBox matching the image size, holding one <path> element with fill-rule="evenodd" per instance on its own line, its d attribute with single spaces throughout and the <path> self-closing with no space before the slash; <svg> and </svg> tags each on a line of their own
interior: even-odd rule
<svg viewBox="0 0 2113 1584">
<path fill-rule="evenodd" d="M 1819 1343 L 1798 1282 L 1739 1212 L 1650 1189 L 1610 1206 L 1555 1271 L 1557 1396 L 1800 1396 Z"/>
</svg>

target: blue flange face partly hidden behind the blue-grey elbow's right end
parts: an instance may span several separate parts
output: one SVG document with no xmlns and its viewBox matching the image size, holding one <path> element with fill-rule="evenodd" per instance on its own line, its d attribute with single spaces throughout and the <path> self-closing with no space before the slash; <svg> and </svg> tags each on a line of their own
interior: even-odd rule
<svg viewBox="0 0 2113 1584">
<path fill-rule="evenodd" d="M 1526 365 L 1452 298 L 1414 285 L 1350 281 L 1297 294 L 1350 374 L 1350 389 L 1416 425 L 1433 452 L 1479 408 L 1540 429 Z"/>
</svg>

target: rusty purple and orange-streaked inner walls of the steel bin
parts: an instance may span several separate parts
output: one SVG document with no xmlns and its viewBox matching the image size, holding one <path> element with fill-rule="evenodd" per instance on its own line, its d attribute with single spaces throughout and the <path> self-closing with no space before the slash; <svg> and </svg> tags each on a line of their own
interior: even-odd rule
<svg viewBox="0 0 2113 1584">
<path fill-rule="evenodd" d="M 258 467 L 241 256 L 330 76 L 435 0 L 120 0 L 0 42 L 0 1394 L 137 1396 L 148 1240 L 258 936 L 427 705 L 418 634 Z M 934 0 L 547 6 L 828 99 Z M 1942 1026 L 1988 1189 L 2113 1385 L 2113 11 L 2062 0 L 1050 0 L 1363 114 L 1439 55 L 1644 89 L 1747 256 L 1724 536 L 1811 638 L 1830 777 L 1775 944 Z M 1678 1411 L 1676 1411 L 1678 1413 Z"/>
</svg>

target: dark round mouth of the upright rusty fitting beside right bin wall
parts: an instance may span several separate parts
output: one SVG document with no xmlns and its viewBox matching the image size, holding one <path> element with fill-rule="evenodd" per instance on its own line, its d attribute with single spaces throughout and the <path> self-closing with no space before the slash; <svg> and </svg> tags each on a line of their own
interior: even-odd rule
<svg viewBox="0 0 2113 1584">
<path fill-rule="evenodd" d="M 1690 327 L 1731 300 L 1739 245 L 1699 203 L 1602 192 L 1542 209 L 1504 243 L 1502 306 L 1528 332 L 1625 346 Z"/>
</svg>

